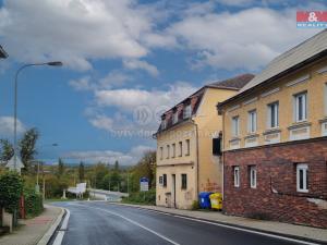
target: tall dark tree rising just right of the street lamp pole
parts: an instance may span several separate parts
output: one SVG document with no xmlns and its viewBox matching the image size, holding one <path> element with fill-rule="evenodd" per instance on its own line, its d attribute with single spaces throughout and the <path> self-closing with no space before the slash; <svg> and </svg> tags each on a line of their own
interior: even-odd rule
<svg viewBox="0 0 327 245">
<path fill-rule="evenodd" d="M 20 142 L 21 147 L 21 158 L 24 163 L 25 170 L 29 170 L 31 161 L 34 160 L 37 154 L 35 145 L 38 139 L 39 133 L 34 127 L 25 132 L 23 138 Z"/>
</svg>

